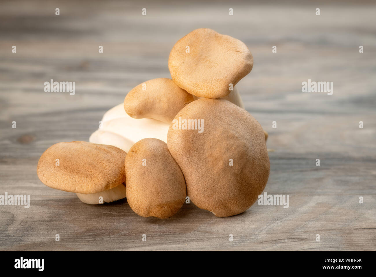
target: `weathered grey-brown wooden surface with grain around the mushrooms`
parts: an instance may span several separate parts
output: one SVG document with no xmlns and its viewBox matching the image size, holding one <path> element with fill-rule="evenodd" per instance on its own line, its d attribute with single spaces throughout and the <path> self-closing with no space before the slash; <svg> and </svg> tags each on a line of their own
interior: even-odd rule
<svg viewBox="0 0 376 277">
<path fill-rule="evenodd" d="M 316 16 L 316 4 L 293 3 L 0 5 L 0 194 L 31 202 L 0 206 L 0 250 L 376 250 L 375 6 L 322 3 Z M 238 88 L 269 132 L 265 191 L 289 194 L 289 208 L 255 204 L 217 218 L 184 204 L 161 220 L 137 216 L 126 200 L 86 205 L 39 181 L 45 149 L 87 141 L 132 87 L 170 77 L 173 44 L 201 27 L 244 41 L 254 56 Z M 76 81 L 76 94 L 44 92 L 50 79 Z M 303 93 L 308 79 L 333 81 L 333 95 Z"/>
</svg>

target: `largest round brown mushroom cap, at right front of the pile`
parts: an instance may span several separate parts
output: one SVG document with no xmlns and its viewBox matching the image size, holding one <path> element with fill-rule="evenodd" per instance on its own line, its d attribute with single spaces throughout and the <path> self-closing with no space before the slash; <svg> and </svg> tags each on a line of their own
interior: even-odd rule
<svg viewBox="0 0 376 277">
<path fill-rule="evenodd" d="M 225 99 L 201 98 L 175 119 L 203 119 L 203 132 L 174 127 L 167 145 L 180 166 L 188 196 L 218 217 L 247 210 L 268 181 L 270 162 L 259 122 Z M 232 159 L 233 165 L 230 165 Z"/>
</svg>

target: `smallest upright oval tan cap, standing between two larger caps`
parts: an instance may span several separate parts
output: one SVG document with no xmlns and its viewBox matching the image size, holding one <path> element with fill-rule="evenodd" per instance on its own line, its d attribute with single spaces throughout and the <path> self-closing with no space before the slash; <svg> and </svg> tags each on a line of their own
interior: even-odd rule
<svg viewBox="0 0 376 277">
<path fill-rule="evenodd" d="M 167 218 L 182 207 L 184 176 L 165 142 L 141 139 L 130 148 L 124 164 L 127 201 L 136 214 Z"/>
</svg>

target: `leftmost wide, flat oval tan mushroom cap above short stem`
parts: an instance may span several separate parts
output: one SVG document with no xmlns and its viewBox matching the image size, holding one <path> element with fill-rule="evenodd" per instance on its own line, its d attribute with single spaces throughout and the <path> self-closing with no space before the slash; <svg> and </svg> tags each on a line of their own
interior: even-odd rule
<svg viewBox="0 0 376 277">
<path fill-rule="evenodd" d="M 99 193 L 125 182 L 123 150 L 85 141 L 59 142 L 45 150 L 36 173 L 43 184 L 74 193 Z M 59 159 L 59 165 L 56 165 Z"/>
</svg>

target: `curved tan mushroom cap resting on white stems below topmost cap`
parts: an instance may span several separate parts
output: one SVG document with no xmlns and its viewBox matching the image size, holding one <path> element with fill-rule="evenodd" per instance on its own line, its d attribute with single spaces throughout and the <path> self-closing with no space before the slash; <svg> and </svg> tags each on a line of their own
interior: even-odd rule
<svg viewBox="0 0 376 277">
<path fill-rule="evenodd" d="M 192 101 L 193 96 L 173 80 L 157 78 L 130 90 L 124 99 L 124 110 L 133 118 L 154 118 L 170 124 L 177 112 Z"/>
</svg>

